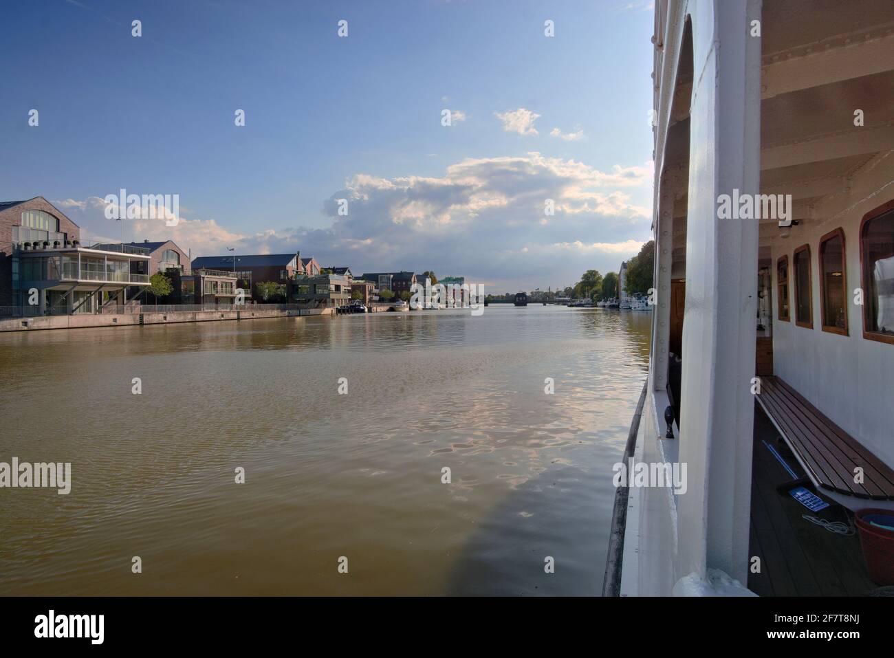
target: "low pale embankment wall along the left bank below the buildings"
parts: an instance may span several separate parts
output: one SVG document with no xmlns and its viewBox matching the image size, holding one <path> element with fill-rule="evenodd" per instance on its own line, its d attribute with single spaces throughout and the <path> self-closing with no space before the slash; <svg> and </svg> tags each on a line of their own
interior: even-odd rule
<svg viewBox="0 0 894 658">
<path fill-rule="evenodd" d="M 39 329 L 80 329 L 96 326 L 172 325 L 181 322 L 257 320 L 265 317 L 332 315 L 332 308 L 268 310 L 167 311 L 155 313 L 84 314 L 73 316 L 9 317 L 0 319 L 0 333 Z"/>
</svg>

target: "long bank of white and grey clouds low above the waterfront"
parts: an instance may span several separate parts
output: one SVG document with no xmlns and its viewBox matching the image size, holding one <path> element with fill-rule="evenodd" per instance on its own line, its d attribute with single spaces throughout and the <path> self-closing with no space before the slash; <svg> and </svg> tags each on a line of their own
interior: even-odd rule
<svg viewBox="0 0 894 658">
<path fill-rule="evenodd" d="M 245 232 L 181 213 L 173 227 L 146 218 L 128 221 L 125 231 L 127 240 L 170 238 L 193 257 L 225 255 L 227 247 L 240 254 L 300 250 L 356 273 L 433 269 L 501 292 L 529 290 L 574 283 L 587 269 L 617 271 L 621 259 L 634 256 L 650 233 L 644 204 L 651 181 L 650 165 L 601 171 L 537 152 L 470 157 L 437 176 L 357 173 L 323 203 L 328 228 L 296 220 L 289 229 Z M 338 212 L 340 199 L 347 215 Z M 544 213 L 547 199 L 552 215 Z M 120 239 L 104 207 L 102 198 L 75 207 L 72 219 L 91 227 L 90 241 Z"/>
</svg>

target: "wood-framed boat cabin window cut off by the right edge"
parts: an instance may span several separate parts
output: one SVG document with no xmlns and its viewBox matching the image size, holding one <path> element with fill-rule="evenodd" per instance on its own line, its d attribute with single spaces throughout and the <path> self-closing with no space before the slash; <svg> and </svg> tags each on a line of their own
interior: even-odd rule
<svg viewBox="0 0 894 658">
<path fill-rule="evenodd" d="M 860 225 L 864 338 L 894 343 L 894 201 Z"/>
</svg>

